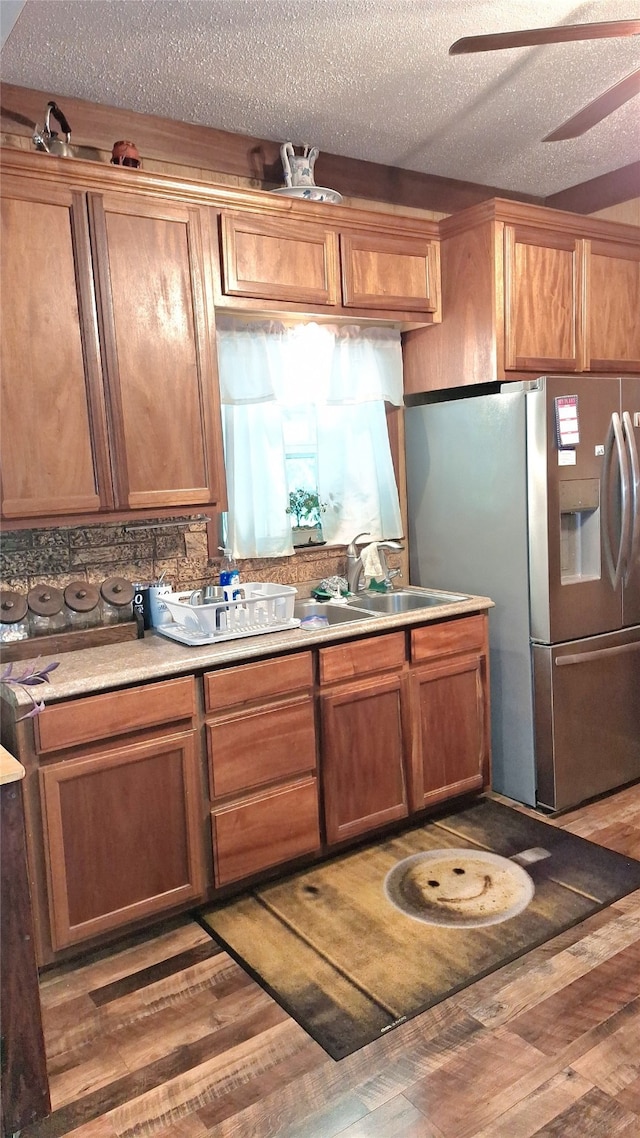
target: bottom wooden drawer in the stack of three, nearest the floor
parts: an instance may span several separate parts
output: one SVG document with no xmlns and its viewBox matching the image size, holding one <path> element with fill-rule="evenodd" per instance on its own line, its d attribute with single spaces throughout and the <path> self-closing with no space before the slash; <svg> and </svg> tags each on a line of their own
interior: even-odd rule
<svg viewBox="0 0 640 1138">
<path fill-rule="evenodd" d="M 212 814 L 215 884 L 320 848 L 315 778 Z"/>
</svg>

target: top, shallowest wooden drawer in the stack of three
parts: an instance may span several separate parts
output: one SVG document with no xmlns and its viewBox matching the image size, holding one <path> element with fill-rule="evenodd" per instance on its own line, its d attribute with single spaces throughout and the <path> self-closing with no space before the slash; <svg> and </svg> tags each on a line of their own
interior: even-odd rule
<svg viewBox="0 0 640 1138">
<path fill-rule="evenodd" d="M 313 666 L 311 652 L 298 652 L 260 663 L 244 663 L 239 668 L 210 671 L 205 676 L 205 708 L 245 706 L 252 700 L 288 695 L 311 687 Z"/>
</svg>

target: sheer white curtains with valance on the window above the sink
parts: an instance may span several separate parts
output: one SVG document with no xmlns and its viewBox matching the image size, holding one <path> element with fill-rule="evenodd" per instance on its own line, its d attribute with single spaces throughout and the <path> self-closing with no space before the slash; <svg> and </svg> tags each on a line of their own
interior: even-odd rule
<svg viewBox="0 0 640 1138">
<path fill-rule="evenodd" d="M 228 544 L 238 558 L 294 552 L 282 413 L 315 417 L 325 539 L 400 537 L 402 521 L 385 401 L 402 404 L 400 332 L 360 325 L 220 318 L 220 388 L 229 493 Z"/>
</svg>

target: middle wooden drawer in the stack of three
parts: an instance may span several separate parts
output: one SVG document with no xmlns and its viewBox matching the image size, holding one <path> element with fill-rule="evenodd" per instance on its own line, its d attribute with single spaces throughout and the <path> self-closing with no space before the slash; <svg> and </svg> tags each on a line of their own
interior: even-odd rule
<svg viewBox="0 0 640 1138">
<path fill-rule="evenodd" d="M 207 724 L 212 798 L 315 769 L 313 702 L 300 699 Z"/>
</svg>

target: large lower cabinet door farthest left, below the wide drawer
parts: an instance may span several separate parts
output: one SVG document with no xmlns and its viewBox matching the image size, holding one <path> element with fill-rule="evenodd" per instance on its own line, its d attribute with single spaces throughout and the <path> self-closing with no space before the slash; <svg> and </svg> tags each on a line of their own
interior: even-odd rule
<svg viewBox="0 0 640 1138">
<path fill-rule="evenodd" d="M 204 889 L 195 732 L 40 770 L 55 949 Z"/>
</svg>

